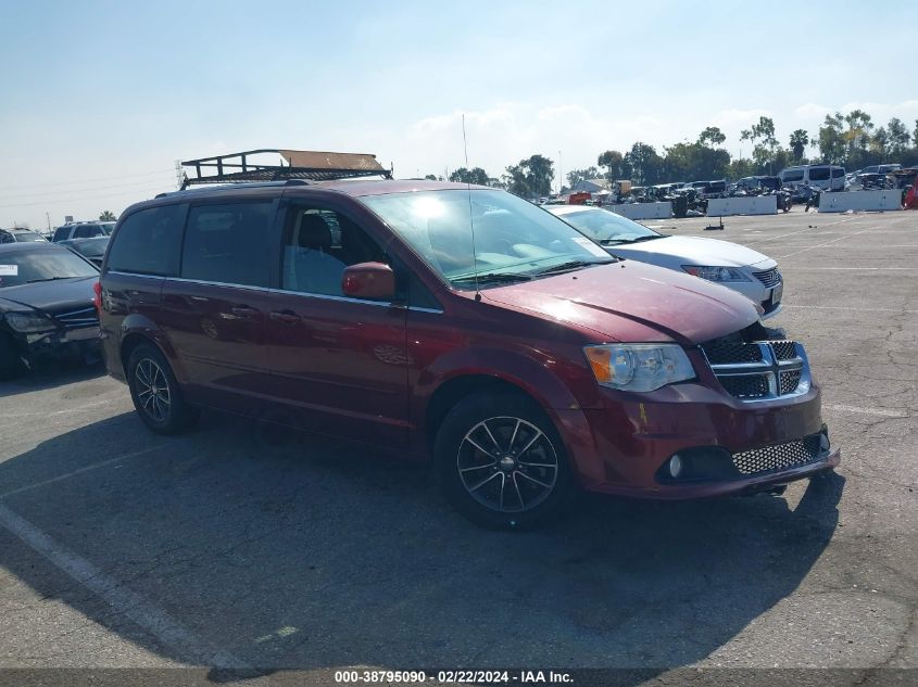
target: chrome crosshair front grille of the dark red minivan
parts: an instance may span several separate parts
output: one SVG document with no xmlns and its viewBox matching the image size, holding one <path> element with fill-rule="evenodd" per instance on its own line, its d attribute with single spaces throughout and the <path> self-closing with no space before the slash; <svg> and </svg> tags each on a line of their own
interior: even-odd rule
<svg viewBox="0 0 918 687">
<path fill-rule="evenodd" d="M 738 342 L 725 338 L 701 345 L 724 390 L 742 402 L 768 400 L 809 391 L 809 364 L 794 341 Z"/>
</svg>

